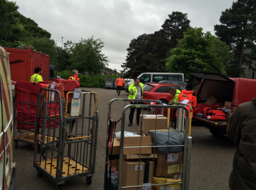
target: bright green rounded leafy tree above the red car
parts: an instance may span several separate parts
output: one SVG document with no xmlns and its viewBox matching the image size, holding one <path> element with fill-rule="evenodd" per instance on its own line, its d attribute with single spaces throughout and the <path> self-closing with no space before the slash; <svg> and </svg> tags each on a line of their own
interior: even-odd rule
<svg viewBox="0 0 256 190">
<path fill-rule="evenodd" d="M 184 33 L 175 49 L 169 52 L 166 66 L 171 73 L 184 73 L 187 79 L 192 72 L 226 74 L 225 67 L 234 54 L 230 47 L 202 28 L 191 28 Z"/>
</svg>

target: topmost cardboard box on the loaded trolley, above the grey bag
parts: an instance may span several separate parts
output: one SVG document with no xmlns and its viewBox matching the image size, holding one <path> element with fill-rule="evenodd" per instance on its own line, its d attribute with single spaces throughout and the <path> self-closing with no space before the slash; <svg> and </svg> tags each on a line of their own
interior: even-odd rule
<svg viewBox="0 0 256 190">
<path fill-rule="evenodd" d="M 148 132 L 150 130 L 156 129 L 167 129 L 167 117 L 164 115 L 148 115 L 144 114 L 142 118 L 142 114 L 139 115 L 139 128 L 142 131 Z"/>
</svg>

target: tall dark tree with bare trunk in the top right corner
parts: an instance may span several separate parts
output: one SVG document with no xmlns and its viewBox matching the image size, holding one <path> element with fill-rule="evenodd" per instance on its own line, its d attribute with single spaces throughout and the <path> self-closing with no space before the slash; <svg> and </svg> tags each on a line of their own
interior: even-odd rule
<svg viewBox="0 0 256 190">
<path fill-rule="evenodd" d="M 244 54 L 246 48 L 254 49 L 256 40 L 256 1 L 238 0 L 232 3 L 232 7 L 222 12 L 221 25 L 215 25 L 216 36 L 226 42 L 235 50 L 236 61 L 232 64 L 229 75 L 242 77 L 243 65 L 248 64 L 248 54 Z"/>
</svg>

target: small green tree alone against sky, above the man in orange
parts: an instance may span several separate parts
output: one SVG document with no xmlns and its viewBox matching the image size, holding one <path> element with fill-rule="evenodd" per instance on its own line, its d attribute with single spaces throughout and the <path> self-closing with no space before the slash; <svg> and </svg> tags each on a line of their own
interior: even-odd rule
<svg viewBox="0 0 256 190">
<path fill-rule="evenodd" d="M 70 53 L 71 69 L 80 73 L 100 74 L 105 66 L 108 66 L 107 57 L 102 53 L 104 42 L 101 39 L 81 39 L 78 43 L 67 41 L 64 48 Z"/>
</svg>

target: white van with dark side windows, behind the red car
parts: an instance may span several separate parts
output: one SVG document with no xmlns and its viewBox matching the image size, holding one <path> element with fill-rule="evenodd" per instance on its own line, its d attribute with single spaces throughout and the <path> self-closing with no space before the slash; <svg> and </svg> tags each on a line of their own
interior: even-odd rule
<svg viewBox="0 0 256 190">
<path fill-rule="evenodd" d="M 183 73 L 142 73 L 137 77 L 139 82 L 143 83 L 144 85 L 149 83 L 155 83 L 162 80 L 172 80 L 172 81 L 184 81 L 184 74 Z M 126 85 L 126 92 L 129 92 L 129 86 L 134 81 L 129 82 Z"/>
</svg>

